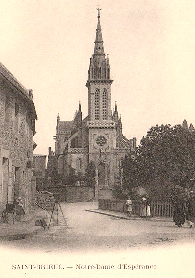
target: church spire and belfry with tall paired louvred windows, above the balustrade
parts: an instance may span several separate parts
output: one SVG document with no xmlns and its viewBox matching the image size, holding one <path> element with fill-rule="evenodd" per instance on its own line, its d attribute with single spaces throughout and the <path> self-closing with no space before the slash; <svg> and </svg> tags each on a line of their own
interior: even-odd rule
<svg viewBox="0 0 195 278">
<path fill-rule="evenodd" d="M 100 10 L 96 29 L 94 54 L 88 70 L 88 115 L 90 121 L 111 120 L 111 83 L 109 56 L 105 57 L 100 24 Z"/>
</svg>

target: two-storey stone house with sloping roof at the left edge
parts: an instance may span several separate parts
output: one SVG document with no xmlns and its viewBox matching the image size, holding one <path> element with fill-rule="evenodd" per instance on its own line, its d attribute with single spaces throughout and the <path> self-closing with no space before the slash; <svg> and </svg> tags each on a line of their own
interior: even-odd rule
<svg viewBox="0 0 195 278">
<path fill-rule="evenodd" d="M 37 115 L 32 90 L 0 63 L 0 208 L 13 202 L 14 193 L 25 208 L 33 202 L 33 142 Z"/>
</svg>

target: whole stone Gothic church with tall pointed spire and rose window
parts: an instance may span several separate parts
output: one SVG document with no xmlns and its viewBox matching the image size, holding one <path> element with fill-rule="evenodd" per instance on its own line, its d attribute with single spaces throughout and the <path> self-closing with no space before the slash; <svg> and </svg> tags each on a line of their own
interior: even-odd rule
<svg viewBox="0 0 195 278">
<path fill-rule="evenodd" d="M 136 138 L 128 140 L 122 134 L 121 116 L 117 104 L 111 110 L 111 84 L 109 57 L 105 55 L 100 25 L 100 9 L 94 53 L 88 70 L 88 116 L 82 118 L 79 102 L 73 121 L 57 117 L 55 153 L 49 154 L 48 165 L 55 156 L 58 174 L 85 172 L 93 161 L 98 173 L 99 189 L 111 189 L 120 183 L 122 159 L 133 154 Z M 48 166 L 49 167 L 49 166 Z"/>
</svg>

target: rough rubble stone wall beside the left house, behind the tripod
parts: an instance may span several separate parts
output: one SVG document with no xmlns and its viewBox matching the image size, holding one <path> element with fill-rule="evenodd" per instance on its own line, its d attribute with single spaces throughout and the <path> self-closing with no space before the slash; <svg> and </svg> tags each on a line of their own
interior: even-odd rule
<svg viewBox="0 0 195 278">
<path fill-rule="evenodd" d="M 46 210 L 52 210 L 55 203 L 54 194 L 48 191 L 36 191 L 35 202 Z"/>
</svg>

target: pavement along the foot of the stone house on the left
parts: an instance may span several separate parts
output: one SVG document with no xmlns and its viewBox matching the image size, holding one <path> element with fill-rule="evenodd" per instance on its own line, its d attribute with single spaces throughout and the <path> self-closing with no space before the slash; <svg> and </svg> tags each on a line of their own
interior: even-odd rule
<svg viewBox="0 0 195 278">
<path fill-rule="evenodd" d="M 11 218 L 7 224 L 0 223 L 0 241 L 24 239 L 44 231 L 43 227 L 35 226 L 35 220 L 44 219 L 48 222 L 49 215 L 47 211 L 34 208 L 26 213 L 24 217 L 16 216 L 14 224 Z"/>
</svg>

